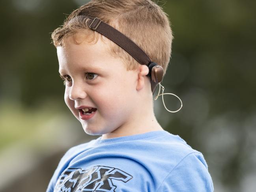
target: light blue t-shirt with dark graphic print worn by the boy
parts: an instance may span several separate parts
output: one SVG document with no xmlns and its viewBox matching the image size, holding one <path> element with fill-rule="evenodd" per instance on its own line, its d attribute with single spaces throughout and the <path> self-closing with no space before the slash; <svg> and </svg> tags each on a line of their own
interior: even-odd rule
<svg viewBox="0 0 256 192">
<path fill-rule="evenodd" d="M 47 192 L 212 192 L 202 153 L 165 130 L 69 149 Z"/>
</svg>

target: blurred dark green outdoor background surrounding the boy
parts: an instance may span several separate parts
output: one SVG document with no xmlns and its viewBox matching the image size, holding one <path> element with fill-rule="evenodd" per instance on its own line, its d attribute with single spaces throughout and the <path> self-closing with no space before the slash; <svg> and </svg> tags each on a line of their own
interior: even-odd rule
<svg viewBox="0 0 256 192">
<path fill-rule="evenodd" d="M 84 133 L 64 103 L 50 34 L 86 0 L 0 1 L 0 191 L 43 192 L 65 151 Z M 216 192 L 256 189 L 256 1 L 155 1 L 174 32 L 165 130 L 201 151 Z M 157 94 L 157 91 L 155 94 Z M 164 95 L 166 107 L 179 100 Z"/>
</svg>

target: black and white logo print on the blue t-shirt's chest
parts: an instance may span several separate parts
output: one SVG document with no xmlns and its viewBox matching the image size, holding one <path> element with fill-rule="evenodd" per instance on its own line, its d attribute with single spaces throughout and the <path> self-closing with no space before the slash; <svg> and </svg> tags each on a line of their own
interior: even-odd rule
<svg viewBox="0 0 256 192">
<path fill-rule="evenodd" d="M 124 171 L 107 166 L 94 166 L 88 170 L 68 168 L 60 175 L 54 192 L 115 192 L 118 186 L 112 180 L 126 183 L 133 178 Z"/>
</svg>

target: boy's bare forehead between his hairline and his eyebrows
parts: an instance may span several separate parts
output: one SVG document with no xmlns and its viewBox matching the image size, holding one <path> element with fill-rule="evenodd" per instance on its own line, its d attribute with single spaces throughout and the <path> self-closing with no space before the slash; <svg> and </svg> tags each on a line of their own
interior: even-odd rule
<svg viewBox="0 0 256 192">
<path fill-rule="evenodd" d="M 110 56 L 109 47 L 99 39 L 97 43 L 90 44 L 80 41 L 76 44 L 73 36 L 67 37 L 65 47 L 57 47 L 59 71 L 71 69 L 97 69 L 107 70 L 124 67 L 119 58 Z"/>
</svg>

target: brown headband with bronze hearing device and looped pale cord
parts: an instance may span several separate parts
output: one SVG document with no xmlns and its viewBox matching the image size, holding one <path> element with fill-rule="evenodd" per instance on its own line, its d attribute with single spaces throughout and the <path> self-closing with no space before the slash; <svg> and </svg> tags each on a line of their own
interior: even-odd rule
<svg viewBox="0 0 256 192">
<path fill-rule="evenodd" d="M 72 18 L 69 22 L 72 22 L 73 20 L 78 20 L 78 19 L 82 19 L 82 22 L 88 22 L 88 27 L 90 29 L 99 32 L 100 34 L 104 35 L 105 37 L 107 37 L 108 39 L 110 39 L 111 41 L 113 41 L 114 43 L 119 45 L 126 52 L 128 52 L 133 58 L 135 58 L 135 60 L 138 61 L 140 64 L 148 66 L 149 73 L 147 76 L 151 80 L 151 90 L 152 90 L 153 94 L 155 92 L 157 85 L 159 84 L 159 92 L 158 92 L 158 95 L 155 97 L 155 100 L 160 95 L 162 95 L 162 99 L 163 99 L 164 94 L 174 95 L 172 93 L 162 93 L 159 95 L 160 88 L 162 86 L 160 84 L 160 82 L 162 82 L 162 80 L 163 80 L 164 69 L 160 65 L 157 65 L 157 63 L 152 62 L 151 59 L 149 58 L 149 56 L 140 47 L 138 47 L 138 45 L 136 45 L 136 43 L 134 43 L 131 39 L 129 39 L 127 36 L 125 36 L 124 34 L 119 32 L 118 30 L 116 30 L 115 28 L 110 26 L 109 24 L 101 21 L 101 19 L 99 19 L 98 17 L 89 17 L 89 16 L 85 16 L 85 15 L 78 15 L 78 16 Z M 162 88 L 162 90 L 164 92 L 164 87 Z M 178 96 L 176 96 L 176 97 L 178 97 Z M 179 99 L 179 97 L 178 97 L 178 99 Z M 174 113 L 174 112 L 178 112 L 182 108 L 181 99 L 179 99 L 179 101 L 181 102 L 181 107 L 176 111 L 168 110 L 164 104 L 164 99 L 163 99 L 163 104 L 164 104 L 164 107 L 166 108 L 166 110 Z"/>
</svg>

